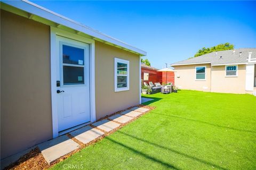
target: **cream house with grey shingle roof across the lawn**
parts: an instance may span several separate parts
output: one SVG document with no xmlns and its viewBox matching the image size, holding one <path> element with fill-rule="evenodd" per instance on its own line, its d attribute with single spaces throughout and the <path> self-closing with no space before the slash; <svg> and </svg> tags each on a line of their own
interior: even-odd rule
<svg viewBox="0 0 256 170">
<path fill-rule="evenodd" d="M 171 64 L 180 89 L 252 94 L 256 48 L 212 52 Z"/>
</svg>

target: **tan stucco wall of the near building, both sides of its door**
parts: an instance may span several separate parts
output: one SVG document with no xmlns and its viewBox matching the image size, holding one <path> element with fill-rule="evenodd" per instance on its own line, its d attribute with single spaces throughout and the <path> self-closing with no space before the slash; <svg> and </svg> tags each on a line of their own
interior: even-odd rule
<svg viewBox="0 0 256 170">
<path fill-rule="evenodd" d="M 130 90 L 114 92 L 114 58 Z M 97 119 L 139 104 L 139 55 L 95 41 Z M 52 138 L 50 27 L 1 10 L 1 159 Z"/>
</svg>

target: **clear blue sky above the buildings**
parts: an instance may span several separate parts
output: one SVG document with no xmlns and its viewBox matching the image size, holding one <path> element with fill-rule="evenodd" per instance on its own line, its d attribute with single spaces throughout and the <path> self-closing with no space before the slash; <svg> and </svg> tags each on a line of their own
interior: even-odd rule
<svg viewBox="0 0 256 170">
<path fill-rule="evenodd" d="M 145 50 L 159 69 L 202 47 L 256 47 L 254 1 L 32 2 Z"/>
</svg>

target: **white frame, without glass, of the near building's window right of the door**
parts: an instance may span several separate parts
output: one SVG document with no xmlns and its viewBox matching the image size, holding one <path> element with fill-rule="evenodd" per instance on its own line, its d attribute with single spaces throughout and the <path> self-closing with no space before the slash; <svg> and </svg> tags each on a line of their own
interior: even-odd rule
<svg viewBox="0 0 256 170">
<path fill-rule="evenodd" d="M 122 75 L 122 74 L 117 74 L 117 63 L 124 63 L 124 64 L 127 64 L 127 74 L 126 75 Z M 115 58 L 114 60 L 114 75 L 115 75 L 115 92 L 118 92 L 118 91 L 127 91 L 127 90 L 130 90 L 130 83 L 129 83 L 129 80 L 130 80 L 130 62 L 128 60 L 123 60 L 123 59 L 120 59 L 120 58 Z M 126 76 L 127 77 L 127 87 L 122 87 L 122 88 L 118 88 L 117 87 L 117 76 Z"/>
</svg>

